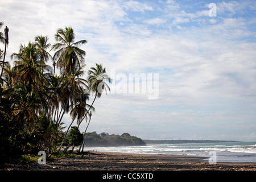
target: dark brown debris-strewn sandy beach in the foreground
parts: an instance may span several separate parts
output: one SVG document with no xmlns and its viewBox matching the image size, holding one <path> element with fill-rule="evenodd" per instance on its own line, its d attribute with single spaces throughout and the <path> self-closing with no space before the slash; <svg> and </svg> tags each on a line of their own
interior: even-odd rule
<svg viewBox="0 0 256 182">
<path fill-rule="evenodd" d="M 47 159 L 46 164 L 5 164 L 3 171 L 256 171 L 256 163 L 209 164 L 201 156 L 90 152 Z"/>
</svg>

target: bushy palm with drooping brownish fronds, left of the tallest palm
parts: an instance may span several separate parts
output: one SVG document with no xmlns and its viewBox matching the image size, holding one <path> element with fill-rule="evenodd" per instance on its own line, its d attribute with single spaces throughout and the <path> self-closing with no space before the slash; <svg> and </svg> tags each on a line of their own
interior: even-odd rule
<svg viewBox="0 0 256 182">
<path fill-rule="evenodd" d="M 50 71 L 51 67 L 44 63 L 46 59 L 37 47 L 35 43 L 29 42 L 27 46 L 20 46 L 19 53 L 11 55 L 11 59 L 15 59 L 11 84 L 16 85 L 14 93 L 19 94 L 17 98 L 20 101 L 18 106 L 21 114 L 17 117 L 23 119 L 23 113 L 27 114 L 24 119 L 31 126 L 31 130 L 35 128 L 38 115 L 46 110 L 49 100 L 46 89 L 49 84 L 47 75 L 43 72 Z"/>
</svg>

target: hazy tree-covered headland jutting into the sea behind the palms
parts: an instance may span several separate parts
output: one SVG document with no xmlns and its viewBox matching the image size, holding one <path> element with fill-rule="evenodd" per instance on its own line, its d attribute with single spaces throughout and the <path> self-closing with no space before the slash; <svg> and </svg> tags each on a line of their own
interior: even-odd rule
<svg viewBox="0 0 256 182">
<path fill-rule="evenodd" d="M 144 146 L 146 143 L 141 139 L 131 136 L 129 133 L 122 135 L 109 135 L 108 133 L 97 134 L 95 131 L 85 134 L 86 147 L 106 146 Z"/>
</svg>

